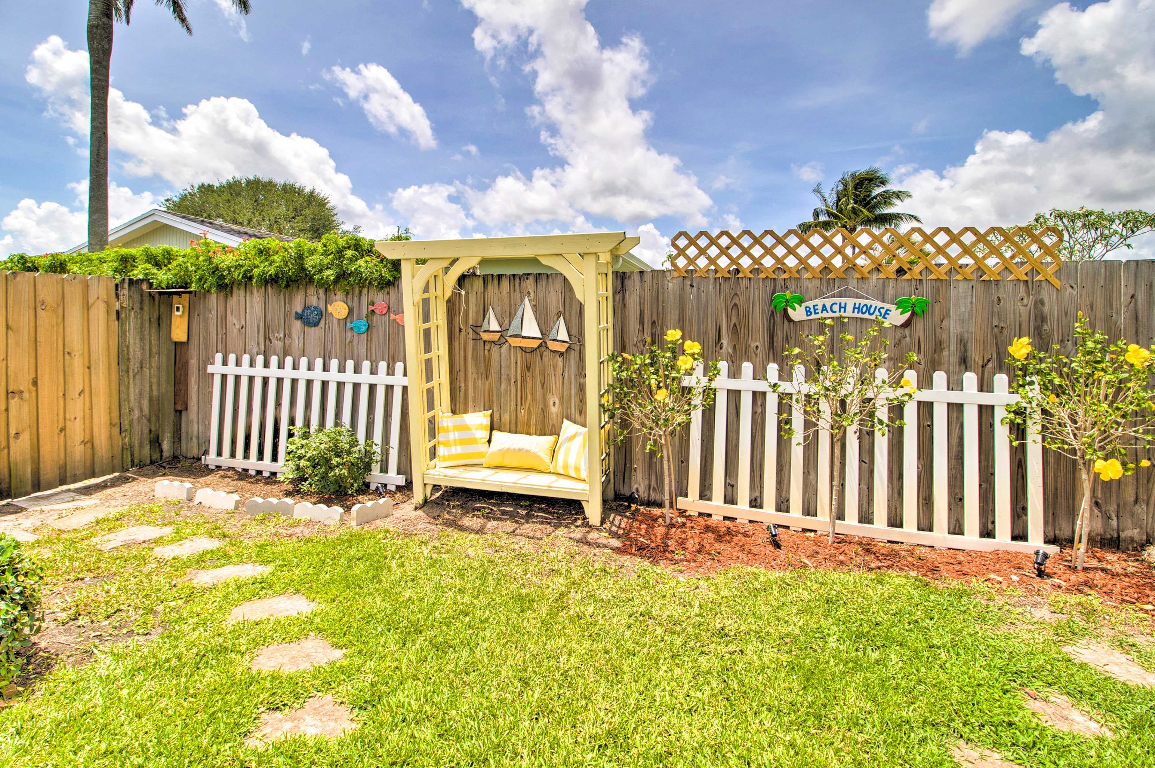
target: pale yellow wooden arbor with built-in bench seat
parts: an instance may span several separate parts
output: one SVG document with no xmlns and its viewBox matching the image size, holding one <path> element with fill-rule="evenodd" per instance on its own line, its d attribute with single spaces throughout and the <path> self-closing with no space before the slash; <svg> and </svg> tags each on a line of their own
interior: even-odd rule
<svg viewBox="0 0 1155 768">
<path fill-rule="evenodd" d="M 602 525 L 602 500 L 612 495 L 609 422 L 601 401 L 609 385 L 608 355 L 613 348 L 612 259 L 639 242 L 624 232 L 531 238 L 410 240 L 378 242 L 377 249 L 401 262 L 409 374 L 409 439 L 413 497 L 424 503 L 434 485 L 454 485 L 575 498 L 591 525 Z M 565 276 L 582 303 L 582 356 L 589 428 L 589 481 L 498 467 L 437 466 L 437 414 L 454 413 L 449 401 L 449 341 L 446 301 L 465 270 L 484 258 L 535 257 Z M 424 263 L 418 264 L 418 259 Z"/>
</svg>

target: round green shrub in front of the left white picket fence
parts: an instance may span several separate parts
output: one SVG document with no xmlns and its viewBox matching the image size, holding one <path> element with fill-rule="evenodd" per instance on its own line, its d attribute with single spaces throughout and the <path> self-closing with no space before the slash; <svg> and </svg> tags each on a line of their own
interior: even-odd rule
<svg viewBox="0 0 1155 768">
<path fill-rule="evenodd" d="M 295 429 L 285 445 L 284 482 L 298 482 L 301 490 L 326 496 L 360 492 L 365 476 L 378 460 L 377 443 L 357 441 L 344 424 L 328 429 Z"/>
</svg>

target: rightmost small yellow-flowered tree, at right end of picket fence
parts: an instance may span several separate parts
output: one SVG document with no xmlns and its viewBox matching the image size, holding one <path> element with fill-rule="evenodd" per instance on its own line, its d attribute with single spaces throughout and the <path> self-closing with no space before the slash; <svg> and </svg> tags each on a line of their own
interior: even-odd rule
<svg viewBox="0 0 1155 768">
<path fill-rule="evenodd" d="M 1075 520 L 1076 569 L 1082 569 L 1095 502 L 1095 476 L 1103 482 L 1150 466 L 1155 447 L 1155 390 L 1152 354 L 1138 344 L 1108 340 L 1089 327 L 1082 313 L 1075 321 L 1075 349 L 1059 354 L 1036 351 L 1030 338 L 1007 347 L 1015 368 L 1006 423 L 1033 427 L 1043 445 L 1079 465 L 1083 498 Z M 1013 443 L 1018 444 L 1014 435 Z"/>
</svg>

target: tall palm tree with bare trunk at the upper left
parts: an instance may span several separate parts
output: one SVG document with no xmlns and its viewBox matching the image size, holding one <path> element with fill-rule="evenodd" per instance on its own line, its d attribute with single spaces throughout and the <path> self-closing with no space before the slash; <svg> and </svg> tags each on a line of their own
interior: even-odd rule
<svg viewBox="0 0 1155 768">
<path fill-rule="evenodd" d="M 185 15 L 188 0 L 154 0 L 164 6 L 189 35 L 193 28 Z M 249 12 L 248 0 L 231 0 L 243 14 Z M 109 70 L 112 65 L 112 27 L 128 24 L 135 0 L 89 0 L 88 2 L 88 71 L 91 112 L 88 157 L 88 249 L 109 247 Z"/>
</svg>

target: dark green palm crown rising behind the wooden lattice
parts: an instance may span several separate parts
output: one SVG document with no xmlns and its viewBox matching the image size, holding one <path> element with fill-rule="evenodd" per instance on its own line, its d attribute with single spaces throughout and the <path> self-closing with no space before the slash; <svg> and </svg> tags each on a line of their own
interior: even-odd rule
<svg viewBox="0 0 1155 768">
<path fill-rule="evenodd" d="M 891 210 L 910 199 L 911 195 L 904 189 L 891 189 L 891 175 L 877 166 L 843 173 L 829 195 L 819 182 L 814 186 L 814 196 L 820 205 L 811 213 L 810 221 L 798 225 L 803 234 L 814 229 L 833 232 L 843 228 L 854 233 L 862 227 L 901 228 L 923 221 L 914 213 Z"/>
</svg>

